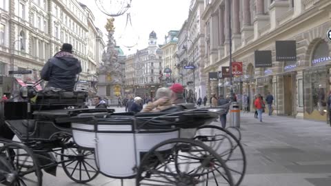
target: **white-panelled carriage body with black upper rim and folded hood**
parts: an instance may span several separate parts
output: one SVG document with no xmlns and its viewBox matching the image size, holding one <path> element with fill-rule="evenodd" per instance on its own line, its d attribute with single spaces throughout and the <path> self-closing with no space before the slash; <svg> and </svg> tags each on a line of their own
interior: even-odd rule
<svg viewBox="0 0 331 186">
<path fill-rule="evenodd" d="M 152 147 L 172 138 L 187 138 L 190 131 L 208 124 L 217 115 L 208 110 L 114 113 L 94 118 L 81 114 L 72 118 L 72 136 L 77 145 L 95 149 L 101 173 L 111 178 L 133 178 Z M 166 156 L 172 147 L 166 145 L 159 151 Z"/>
</svg>

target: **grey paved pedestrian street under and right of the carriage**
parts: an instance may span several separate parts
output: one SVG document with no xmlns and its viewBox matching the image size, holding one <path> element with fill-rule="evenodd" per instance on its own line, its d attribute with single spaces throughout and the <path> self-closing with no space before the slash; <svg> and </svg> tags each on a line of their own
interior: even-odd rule
<svg viewBox="0 0 331 186">
<path fill-rule="evenodd" d="M 123 108 L 114 108 L 123 111 Z M 220 123 L 214 122 L 214 125 Z M 244 113 L 241 132 L 248 161 L 241 185 L 331 185 L 331 127 L 327 124 L 284 116 L 263 116 L 260 123 L 253 114 Z M 57 174 L 54 177 L 44 173 L 43 185 L 82 185 L 67 178 L 61 167 Z M 124 181 L 125 186 L 134 184 L 134 180 Z M 121 182 L 100 174 L 88 185 L 113 186 Z"/>
</svg>

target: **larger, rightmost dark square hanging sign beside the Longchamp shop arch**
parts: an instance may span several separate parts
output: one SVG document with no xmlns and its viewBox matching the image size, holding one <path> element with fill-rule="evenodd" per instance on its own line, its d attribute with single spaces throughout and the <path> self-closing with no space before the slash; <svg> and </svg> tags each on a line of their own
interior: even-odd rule
<svg viewBox="0 0 331 186">
<path fill-rule="evenodd" d="M 297 61 L 297 41 L 276 41 L 276 61 Z"/>
</svg>

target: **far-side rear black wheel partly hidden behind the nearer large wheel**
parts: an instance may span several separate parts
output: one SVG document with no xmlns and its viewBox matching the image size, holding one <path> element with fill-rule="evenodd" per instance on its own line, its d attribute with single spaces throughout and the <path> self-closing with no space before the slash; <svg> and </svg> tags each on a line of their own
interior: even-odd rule
<svg viewBox="0 0 331 186">
<path fill-rule="evenodd" d="M 199 134 L 199 130 L 204 129 L 212 130 L 213 134 Z M 225 164 L 228 166 L 232 174 L 234 185 L 240 185 L 245 176 L 247 162 L 245 151 L 238 138 L 234 136 L 232 132 L 215 125 L 203 125 L 198 128 L 196 134 L 197 135 L 194 139 L 202 141 L 205 145 L 212 147 L 212 149 L 223 158 Z M 225 140 L 228 141 L 228 146 L 230 146 L 230 148 L 225 149 L 225 147 L 225 150 L 222 150 L 220 147 L 222 144 L 226 146 L 226 143 L 223 142 Z M 219 144 L 210 145 L 213 141 L 215 144 L 217 143 L 216 141 L 219 141 Z"/>
</svg>

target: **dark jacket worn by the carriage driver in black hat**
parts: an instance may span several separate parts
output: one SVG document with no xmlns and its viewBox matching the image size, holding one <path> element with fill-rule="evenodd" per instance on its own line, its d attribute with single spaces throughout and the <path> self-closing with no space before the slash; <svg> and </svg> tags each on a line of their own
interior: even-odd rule
<svg viewBox="0 0 331 186">
<path fill-rule="evenodd" d="M 72 91 L 76 76 L 81 72 L 81 63 L 74 56 L 58 54 L 43 66 L 41 79 L 48 81 L 47 87 Z"/>
</svg>

